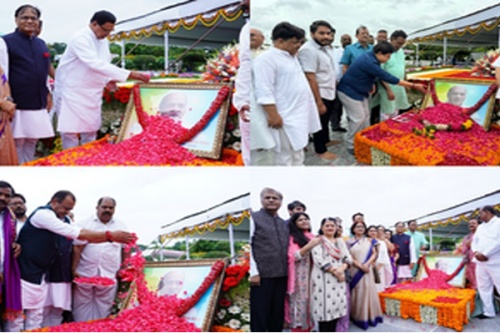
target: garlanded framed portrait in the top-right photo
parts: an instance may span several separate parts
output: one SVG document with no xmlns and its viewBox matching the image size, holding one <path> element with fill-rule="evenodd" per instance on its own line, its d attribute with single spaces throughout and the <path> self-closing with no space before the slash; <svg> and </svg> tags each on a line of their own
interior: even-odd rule
<svg viewBox="0 0 500 333">
<path fill-rule="evenodd" d="M 492 82 L 487 80 L 456 80 L 440 78 L 435 79 L 436 95 L 443 103 L 470 108 L 486 94 Z M 425 109 L 434 106 L 432 97 L 427 94 L 422 104 Z M 488 130 L 495 107 L 495 94 L 484 102 L 470 117 L 485 130 Z"/>
</svg>

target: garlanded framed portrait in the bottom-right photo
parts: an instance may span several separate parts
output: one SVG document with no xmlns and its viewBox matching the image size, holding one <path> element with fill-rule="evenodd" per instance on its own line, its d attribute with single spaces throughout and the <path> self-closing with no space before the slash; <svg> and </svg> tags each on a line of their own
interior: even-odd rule
<svg viewBox="0 0 500 333">
<path fill-rule="evenodd" d="M 426 255 L 425 260 L 427 261 L 427 266 L 430 269 L 439 269 L 446 274 L 452 274 L 462 263 L 464 256 L 459 254 L 436 254 L 436 255 Z M 448 281 L 454 287 L 464 288 L 465 287 L 465 270 L 467 265 L 462 268 L 462 270 L 455 276 L 451 281 Z M 417 282 L 425 279 L 427 277 L 424 265 L 418 267 L 417 272 Z"/>
</svg>

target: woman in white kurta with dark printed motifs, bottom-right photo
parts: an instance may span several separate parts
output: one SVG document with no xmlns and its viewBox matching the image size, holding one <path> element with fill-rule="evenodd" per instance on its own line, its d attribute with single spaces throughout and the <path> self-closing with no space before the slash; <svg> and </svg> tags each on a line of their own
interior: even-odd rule
<svg viewBox="0 0 500 333">
<path fill-rule="evenodd" d="M 337 320 L 347 313 L 345 270 L 351 256 L 336 231 L 335 220 L 323 219 L 321 244 L 312 250 L 311 312 L 320 332 L 335 332 Z"/>
</svg>

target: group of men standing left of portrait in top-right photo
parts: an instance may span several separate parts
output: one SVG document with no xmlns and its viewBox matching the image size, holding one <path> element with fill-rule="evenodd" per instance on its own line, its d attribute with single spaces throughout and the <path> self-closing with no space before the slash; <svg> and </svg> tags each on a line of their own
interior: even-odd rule
<svg viewBox="0 0 500 333">
<path fill-rule="evenodd" d="M 342 107 L 348 120 L 346 148 L 354 155 L 354 136 L 370 125 L 370 101 L 380 100 L 379 112 L 387 119 L 409 108 L 405 89 L 425 92 L 424 86 L 404 80 L 404 31 L 396 30 L 387 42 L 381 30 L 373 46 L 368 28 L 361 26 L 356 43 L 342 36 L 343 49 L 331 46 L 335 32 L 327 21 L 315 21 L 306 41 L 303 29 L 281 22 L 272 31 L 273 46 L 255 51 L 252 165 L 303 165 L 310 134 L 320 158 L 336 159 L 328 147 L 339 142 L 330 140 L 329 123 L 332 131 L 346 131 L 340 126 Z M 371 124 L 380 118 L 373 113 Z"/>
</svg>

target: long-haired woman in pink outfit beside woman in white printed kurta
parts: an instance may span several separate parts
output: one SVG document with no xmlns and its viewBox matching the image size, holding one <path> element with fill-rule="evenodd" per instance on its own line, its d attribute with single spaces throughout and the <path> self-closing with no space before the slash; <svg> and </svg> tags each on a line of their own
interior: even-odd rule
<svg viewBox="0 0 500 333">
<path fill-rule="evenodd" d="M 311 274 L 310 250 L 321 241 L 311 234 L 311 222 L 306 213 L 295 213 L 288 223 L 288 287 L 285 298 L 285 320 L 292 332 L 309 332 L 311 320 L 309 277 Z"/>
</svg>

